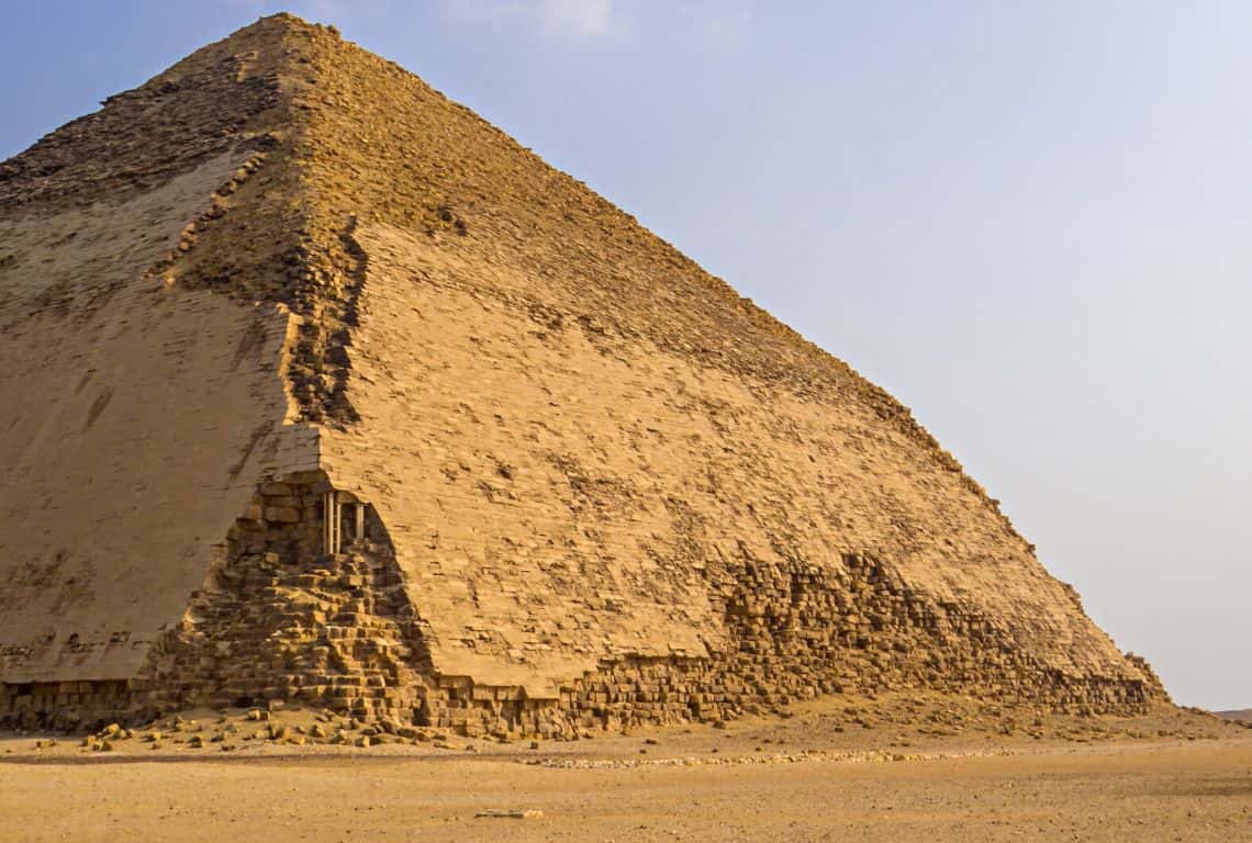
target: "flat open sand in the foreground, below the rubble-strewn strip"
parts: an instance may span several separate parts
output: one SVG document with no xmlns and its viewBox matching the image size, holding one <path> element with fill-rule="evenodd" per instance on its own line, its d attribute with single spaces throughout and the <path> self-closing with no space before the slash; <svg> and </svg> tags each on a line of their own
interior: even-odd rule
<svg viewBox="0 0 1252 843">
<path fill-rule="evenodd" d="M 542 812 L 540 817 L 481 813 Z M 0 765 L 4 840 L 1246 840 L 1252 742 L 898 763 Z"/>
</svg>

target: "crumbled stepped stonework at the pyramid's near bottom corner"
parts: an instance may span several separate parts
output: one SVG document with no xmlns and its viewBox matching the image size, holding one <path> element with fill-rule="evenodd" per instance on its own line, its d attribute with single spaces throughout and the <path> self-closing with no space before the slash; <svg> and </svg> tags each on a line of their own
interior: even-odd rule
<svg viewBox="0 0 1252 843">
<path fill-rule="evenodd" d="M 427 673 L 386 528 L 312 472 L 262 487 L 140 682 L 162 710 L 280 699 L 411 722 Z"/>
</svg>

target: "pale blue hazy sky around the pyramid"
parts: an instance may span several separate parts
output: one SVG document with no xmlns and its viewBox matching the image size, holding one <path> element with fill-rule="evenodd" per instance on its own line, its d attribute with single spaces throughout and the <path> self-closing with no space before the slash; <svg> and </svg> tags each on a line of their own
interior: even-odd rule
<svg viewBox="0 0 1252 843">
<path fill-rule="evenodd" d="M 1252 705 L 1252 4 L 0 0 L 0 159 L 289 10 L 913 408 L 1174 699 Z"/>
</svg>

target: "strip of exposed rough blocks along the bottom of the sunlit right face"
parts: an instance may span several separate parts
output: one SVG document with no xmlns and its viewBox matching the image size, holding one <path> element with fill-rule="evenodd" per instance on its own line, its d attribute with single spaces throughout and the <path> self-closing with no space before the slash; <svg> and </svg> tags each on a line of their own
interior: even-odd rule
<svg viewBox="0 0 1252 843">
<path fill-rule="evenodd" d="M 1069 677 L 1014 647 L 1009 630 L 957 604 L 910 592 L 871 558 L 848 554 L 844 570 L 749 558 L 721 570 L 736 648 L 712 658 L 605 659 L 553 700 L 521 688 L 441 677 L 431 724 L 466 734 L 557 737 L 583 729 L 732 719 L 776 712 L 819 694 L 916 690 L 1043 705 L 1073 714 L 1141 714 L 1167 702 L 1147 663 L 1143 678 Z"/>
</svg>

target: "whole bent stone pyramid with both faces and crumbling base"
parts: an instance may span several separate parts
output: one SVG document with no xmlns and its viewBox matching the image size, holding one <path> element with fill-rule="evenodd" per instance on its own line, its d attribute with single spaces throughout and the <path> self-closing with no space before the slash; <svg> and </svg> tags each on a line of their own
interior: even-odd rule
<svg viewBox="0 0 1252 843">
<path fill-rule="evenodd" d="M 0 718 L 1164 692 L 908 410 L 280 15 L 0 165 Z"/>
</svg>

